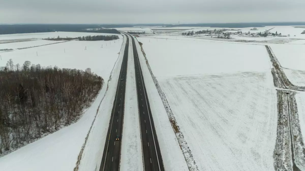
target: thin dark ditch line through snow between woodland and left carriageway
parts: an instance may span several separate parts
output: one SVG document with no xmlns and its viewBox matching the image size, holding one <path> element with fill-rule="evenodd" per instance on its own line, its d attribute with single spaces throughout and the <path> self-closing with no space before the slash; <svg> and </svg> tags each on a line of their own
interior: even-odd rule
<svg viewBox="0 0 305 171">
<path fill-rule="evenodd" d="M 124 37 L 124 36 L 123 36 L 123 37 Z M 122 42 L 122 46 L 121 46 L 120 52 L 121 52 L 122 49 L 124 49 L 124 48 L 125 48 L 125 44 L 124 44 L 124 38 L 123 38 L 123 42 Z M 118 57 L 117 57 L 117 61 L 119 60 L 119 58 L 120 58 L 120 53 L 119 53 L 119 55 L 118 55 Z M 108 91 L 109 82 L 111 81 L 111 76 L 112 76 L 112 74 L 113 74 L 114 67 L 115 67 L 116 64 L 117 64 L 117 61 L 115 61 L 114 65 L 113 65 L 113 68 L 112 68 L 112 70 L 111 70 L 109 79 L 108 79 L 108 81 L 107 81 L 107 88 L 106 88 L 106 91 L 105 91 L 105 93 L 104 93 L 104 96 L 103 96 L 102 100 L 101 100 L 100 103 L 99 103 L 99 106 L 98 106 L 98 108 L 97 108 L 97 110 L 96 110 L 96 114 L 95 114 L 94 119 L 93 119 L 93 121 L 92 121 L 92 124 L 91 124 L 91 126 L 90 126 L 90 128 L 89 128 L 88 134 L 87 134 L 87 136 L 86 136 L 86 138 L 85 138 L 85 142 L 84 142 L 84 144 L 82 145 L 81 151 L 80 151 L 79 154 L 78 154 L 77 162 L 76 162 L 76 165 L 75 165 L 75 167 L 74 167 L 74 169 L 73 169 L 74 171 L 78 171 L 78 169 L 79 169 L 79 165 L 80 165 L 80 163 L 81 163 L 81 158 L 82 158 L 82 155 L 83 155 L 85 146 L 86 146 L 86 144 L 87 144 L 88 137 L 89 137 L 89 135 L 90 135 L 92 126 L 93 126 L 93 124 L 94 124 L 94 122 L 95 122 L 96 116 L 97 116 L 97 114 L 99 113 L 99 107 L 101 106 L 102 101 L 103 101 L 103 99 L 105 98 L 106 93 L 107 93 L 107 91 Z"/>
</svg>

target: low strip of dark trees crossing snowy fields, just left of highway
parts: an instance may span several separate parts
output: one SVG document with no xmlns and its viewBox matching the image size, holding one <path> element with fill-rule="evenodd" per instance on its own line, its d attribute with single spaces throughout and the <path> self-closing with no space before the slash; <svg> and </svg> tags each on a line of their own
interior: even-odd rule
<svg viewBox="0 0 305 171">
<path fill-rule="evenodd" d="M 74 40 L 74 39 L 77 39 L 77 40 L 86 40 L 86 41 L 97 41 L 97 40 L 117 40 L 119 39 L 119 37 L 117 35 L 107 35 L 107 36 L 103 36 L 103 35 L 98 35 L 98 36 L 83 36 L 83 37 L 57 37 L 57 38 L 46 38 L 46 39 L 43 39 L 43 40 L 56 40 L 56 41 L 59 41 L 59 40 Z"/>
</svg>

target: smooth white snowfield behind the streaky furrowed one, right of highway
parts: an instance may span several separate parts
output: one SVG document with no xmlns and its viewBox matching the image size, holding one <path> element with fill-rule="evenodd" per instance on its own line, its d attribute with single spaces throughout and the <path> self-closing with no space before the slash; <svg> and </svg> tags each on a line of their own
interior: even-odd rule
<svg viewBox="0 0 305 171">
<path fill-rule="evenodd" d="M 149 40 L 142 37 L 138 40 L 143 43 L 146 57 L 156 77 L 266 71 L 271 68 L 264 46 L 169 39 Z"/>
</svg>

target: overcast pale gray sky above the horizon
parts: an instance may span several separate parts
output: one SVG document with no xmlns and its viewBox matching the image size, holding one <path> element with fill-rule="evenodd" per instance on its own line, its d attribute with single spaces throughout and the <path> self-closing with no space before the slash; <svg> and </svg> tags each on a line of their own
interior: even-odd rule
<svg viewBox="0 0 305 171">
<path fill-rule="evenodd" d="M 305 21 L 305 0 L 0 0 L 1 23 Z"/>
</svg>

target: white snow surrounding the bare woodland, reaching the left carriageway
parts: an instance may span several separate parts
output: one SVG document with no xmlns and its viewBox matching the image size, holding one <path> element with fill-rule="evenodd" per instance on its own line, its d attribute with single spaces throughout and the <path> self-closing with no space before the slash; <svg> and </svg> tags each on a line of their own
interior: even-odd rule
<svg viewBox="0 0 305 171">
<path fill-rule="evenodd" d="M 53 134 L 49 134 L 44 138 L 41 138 L 31 144 L 28 144 L 16 150 L 15 152 L 12 152 L 0 158 L 1 171 L 73 170 L 77 162 L 77 156 L 84 143 L 85 137 L 92 124 L 95 114 L 97 113 L 97 109 L 99 108 L 101 100 L 103 99 L 104 94 L 106 92 L 106 96 L 99 108 L 100 110 L 98 116 L 96 117 L 96 122 L 92 128 L 95 131 L 98 130 L 99 136 L 89 136 L 87 143 L 89 144 L 94 142 L 96 144 L 96 146 L 90 146 L 90 149 L 94 148 L 94 153 L 88 148 L 85 148 L 82 160 L 84 163 L 88 163 L 88 160 L 91 160 L 92 162 L 95 161 L 94 168 L 96 166 L 96 163 L 99 163 L 101 161 L 103 150 L 102 148 L 104 148 L 105 145 L 109 118 L 112 109 L 112 105 L 110 103 L 113 103 L 113 93 L 115 93 L 116 88 L 116 86 L 113 85 L 116 85 L 117 83 L 119 75 L 119 72 L 117 72 L 119 71 L 119 69 L 117 68 L 120 68 L 120 63 L 118 64 L 120 60 L 117 62 L 117 65 L 115 65 L 116 68 L 114 69 L 112 80 L 109 82 L 111 86 L 109 86 L 108 91 L 106 91 L 107 79 L 109 78 L 113 66 L 118 59 L 117 53 L 120 51 L 121 45 L 124 42 L 122 40 L 117 41 L 116 44 L 112 44 L 111 46 L 109 46 L 109 49 L 104 48 L 103 50 L 97 49 L 97 47 L 100 47 L 101 42 L 87 43 L 87 51 L 84 51 L 83 48 L 79 49 L 80 47 L 83 47 L 86 44 L 85 42 L 82 43 L 72 41 L 66 44 L 66 47 L 70 49 L 66 51 L 66 54 L 61 51 L 58 51 L 58 48 L 62 49 L 62 47 L 60 47 L 62 45 L 55 44 L 45 47 L 37 47 L 7 52 L 5 53 L 5 55 L 8 56 L 2 56 L 0 66 L 5 65 L 6 61 L 9 58 L 13 58 L 15 64 L 18 62 L 20 64 L 23 64 L 24 61 L 29 60 L 34 64 L 40 63 L 42 66 L 58 65 L 59 67 L 63 68 L 77 69 L 85 69 L 87 67 L 91 67 L 93 72 L 96 72 L 105 79 L 105 84 L 99 95 L 97 96 L 96 100 L 92 103 L 91 107 L 84 110 L 84 115 L 78 122 L 71 124 L 70 126 L 64 127 Z M 41 52 L 38 57 L 36 57 L 35 55 L 29 55 L 37 50 Z M 120 57 L 120 59 L 122 59 L 122 57 Z M 88 62 L 88 60 L 90 60 L 91 62 Z M 101 151 L 98 151 L 99 149 Z M 87 153 L 88 151 L 90 153 Z M 100 159 L 99 157 L 93 155 L 97 153 L 98 155 L 96 156 L 100 155 Z M 89 158 L 87 158 L 88 155 L 90 156 Z M 92 165 L 87 164 L 87 166 Z"/>
</svg>

